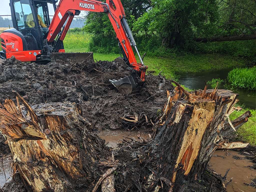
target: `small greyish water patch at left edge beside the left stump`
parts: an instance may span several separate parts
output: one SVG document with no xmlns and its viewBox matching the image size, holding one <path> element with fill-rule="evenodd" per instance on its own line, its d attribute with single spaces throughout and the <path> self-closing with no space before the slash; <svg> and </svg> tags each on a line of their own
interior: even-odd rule
<svg viewBox="0 0 256 192">
<path fill-rule="evenodd" d="M 12 170 L 10 167 L 11 157 L 3 158 L 3 164 L 0 159 L 0 187 L 3 187 L 6 181 L 12 177 Z"/>
</svg>

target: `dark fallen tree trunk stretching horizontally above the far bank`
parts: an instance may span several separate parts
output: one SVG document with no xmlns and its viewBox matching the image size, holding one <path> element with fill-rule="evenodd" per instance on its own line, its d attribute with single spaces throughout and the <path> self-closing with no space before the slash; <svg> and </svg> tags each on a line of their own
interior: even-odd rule
<svg viewBox="0 0 256 192">
<path fill-rule="evenodd" d="M 223 36 L 223 37 L 212 37 L 212 38 L 195 38 L 197 42 L 220 42 L 220 41 L 243 41 L 256 39 L 256 33 L 250 35 L 233 35 L 233 36 Z"/>
</svg>

